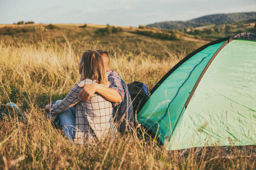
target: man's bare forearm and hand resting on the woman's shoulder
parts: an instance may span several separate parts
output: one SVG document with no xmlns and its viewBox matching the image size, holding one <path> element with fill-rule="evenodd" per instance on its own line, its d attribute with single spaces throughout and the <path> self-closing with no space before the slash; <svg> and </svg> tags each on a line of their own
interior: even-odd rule
<svg viewBox="0 0 256 170">
<path fill-rule="evenodd" d="M 89 97 L 92 96 L 95 92 L 113 103 L 119 103 L 122 101 L 122 97 L 119 92 L 113 88 L 104 87 L 97 83 L 81 84 L 79 87 L 83 87 L 79 93 L 79 99 L 83 101 L 87 101 Z"/>
</svg>

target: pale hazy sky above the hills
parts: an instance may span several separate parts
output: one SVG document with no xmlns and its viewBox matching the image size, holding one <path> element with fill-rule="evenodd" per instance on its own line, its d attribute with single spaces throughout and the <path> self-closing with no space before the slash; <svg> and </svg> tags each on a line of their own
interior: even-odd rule
<svg viewBox="0 0 256 170">
<path fill-rule="evenodd" d="M 255 12 L 256 0 L 0 0 L 0 24 L 88 23 L 120 26 Z"/>
</svg>

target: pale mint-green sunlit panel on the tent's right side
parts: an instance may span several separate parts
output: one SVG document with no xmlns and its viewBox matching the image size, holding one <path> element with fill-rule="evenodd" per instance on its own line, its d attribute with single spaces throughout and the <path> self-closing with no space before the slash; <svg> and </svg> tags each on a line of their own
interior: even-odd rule
<svg viewBox="0 0 256 170">
<path fill-rule="evenodd" d="M 229 42 L 205 72 L 167 149 L 256 145 L 255 84 L 256 41 Z"/>
</svg>

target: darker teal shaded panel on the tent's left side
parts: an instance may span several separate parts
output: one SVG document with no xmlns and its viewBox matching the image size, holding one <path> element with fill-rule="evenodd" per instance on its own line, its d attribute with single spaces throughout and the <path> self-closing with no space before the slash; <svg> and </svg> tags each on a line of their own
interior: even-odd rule
<svg viewBox="0 0 256 170">
<path fill-rule="evenodd" d="M 197 79 L 222 44 L 224 42 L 210 45 L 184 62 L 164 80 L 139 112 L 138 122 L 162 134 L 162 142 L 171 135 Z"/>
</svg>

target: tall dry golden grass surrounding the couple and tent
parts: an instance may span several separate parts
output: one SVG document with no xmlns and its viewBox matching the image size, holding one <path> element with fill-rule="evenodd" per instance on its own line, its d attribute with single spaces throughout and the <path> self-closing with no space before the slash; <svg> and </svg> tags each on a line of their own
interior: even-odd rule
<svg viewBox="0 0 256 170">
<path fill-rule="evenodd" d="M 66 38 L 67 39 L 67 38 Z M 100 49 L 92 45 L 90 49 Z M 138 80 L 148 88 L 185 56 L 158 59 L 111 51 L 110 67 L 126 83 Z M 135 133 L 119 135 L 96 146 L 77 146 L 43 117 L 40 107 L 62 99 L 79 82 L 77 65 L 81 53 L 72 45 L 51 45 L 44 40 L 27 43 L 19 39 L 0 42 L 0 107 L 15 102 L 26 117 L 15 111 L 0 119 L 0 169 L 254 169 L 255 147 L 204 147 L 166 151 L 156 138 L 138 126 Z M 179 58 L 179 59 L 178 59 Z"/>
</svg>

